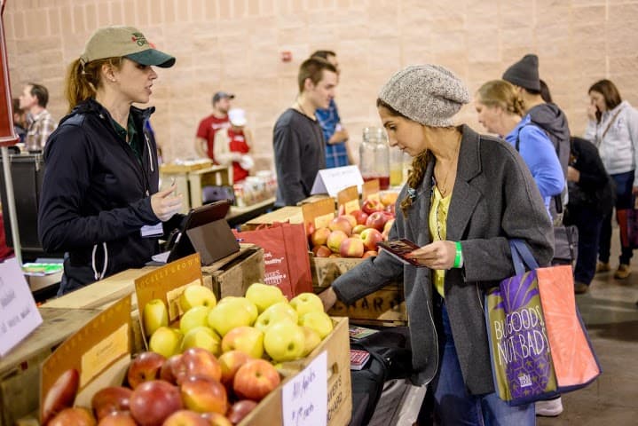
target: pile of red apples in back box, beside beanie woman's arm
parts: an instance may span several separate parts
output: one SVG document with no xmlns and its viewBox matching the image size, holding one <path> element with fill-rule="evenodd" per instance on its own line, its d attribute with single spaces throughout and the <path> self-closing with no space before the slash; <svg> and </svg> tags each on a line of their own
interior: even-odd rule
<svg viewBox="0 0 638 426">
<path fill-rule="evenodd" d="M 384 194 L 381 201 L 367 199 L 360 210 L 340 211 L 327 227 L 311 229 L 312 253 L 317 257 L 376 256 L 376 244 L 388 240 L 394 223 L 395 201 L 396 193 Z"/>
</svg>

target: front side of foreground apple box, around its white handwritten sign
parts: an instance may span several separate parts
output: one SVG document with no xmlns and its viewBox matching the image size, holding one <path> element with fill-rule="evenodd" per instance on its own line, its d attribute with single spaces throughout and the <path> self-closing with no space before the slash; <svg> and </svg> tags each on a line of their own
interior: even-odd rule
<svg viewBox="0 0 638 426">
<path fill-rule="evenodd" d="M 283 424 L 282 391 L 294 375 L 307 367 L 319 354 L 327 352 L 327 425 L 344 426 L 352 415 L 352 385 L 350 375 L 350 335 L 347 318 L 333 318 L 335 329 L 308 357 L 283 363 L 280 371 L 286 376 L 280 386 L 264 398 L 239 423 L 240 426 L 272 426 Z M 319 395 L 317 395 L 319 400 Z"/>
</svg>

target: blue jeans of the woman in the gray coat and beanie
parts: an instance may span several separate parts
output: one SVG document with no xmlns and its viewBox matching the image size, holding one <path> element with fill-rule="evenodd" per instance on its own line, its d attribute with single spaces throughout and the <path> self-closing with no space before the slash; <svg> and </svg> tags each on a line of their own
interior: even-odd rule
<svg viewBox="0 0 638 426">
<path fill-rule="evenodd" d="M 454 347 L 445 303 L 441 308 L 445 343 L 441 345 L 438 375 L 433 381 L 434 412 L 442 426 L 536 424 L 534 405 L 508 406 L 496 393 L 470 395 Z"/>
</svg>

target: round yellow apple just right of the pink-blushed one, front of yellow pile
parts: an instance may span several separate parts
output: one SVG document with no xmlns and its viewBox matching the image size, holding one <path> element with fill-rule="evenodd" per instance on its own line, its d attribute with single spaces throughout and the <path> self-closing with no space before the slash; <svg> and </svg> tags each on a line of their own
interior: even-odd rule
<svg viewBox="0 0 638 426">
<path fill-rule="evenodd" d="M 264 349 L 275 362 L 293 361 L 303 357 L 305 336 L 302 327 L 292 321 L 280 321 L 268 327 Z"/>
</svg>

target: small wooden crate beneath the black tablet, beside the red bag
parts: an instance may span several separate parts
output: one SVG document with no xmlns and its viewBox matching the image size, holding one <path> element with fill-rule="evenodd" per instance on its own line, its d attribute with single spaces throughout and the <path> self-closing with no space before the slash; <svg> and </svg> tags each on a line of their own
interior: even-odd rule
<svg viewBox="0 0 638 426">
<path fill-rule="evenodd" d="M 224 263 L 203 266 L 204 285 L 213 289 L 217 299 L 244 296 L 253 282 L 264 282 L 264 248 L 241 244 L 240 252 L 224 257 Z M 210 280 L 210 284 L 206 282 Z"/>
</svg>

